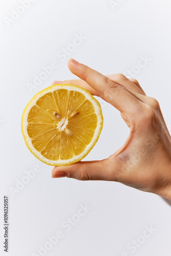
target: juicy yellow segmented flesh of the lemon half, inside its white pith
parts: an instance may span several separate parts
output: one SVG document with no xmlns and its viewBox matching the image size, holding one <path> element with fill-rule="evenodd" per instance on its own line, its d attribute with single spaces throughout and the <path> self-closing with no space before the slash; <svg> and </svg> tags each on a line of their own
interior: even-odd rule
<svg viewBox="0 0 171 256">
<path fill-rule="evenodd" d="M 98 122 L 92 102 L 82 93 L 66 89 L 40 97 L 27 121 L 32 145 L 53 161 L 80 155 L 91 142 Z"/>
</svg>

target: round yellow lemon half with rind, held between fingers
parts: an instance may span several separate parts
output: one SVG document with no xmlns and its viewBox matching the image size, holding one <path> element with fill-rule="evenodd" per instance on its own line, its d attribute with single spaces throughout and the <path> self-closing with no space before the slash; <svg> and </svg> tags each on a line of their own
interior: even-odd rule
<svg viewBox="0 0 171 256">
<path fill-rule="evenodd" d="M 55 84 L 37 93 L 22 116 L 22 133 L 40 161 L 68 165 L 88 155 L 103 126 L 100 103 L 85 89 Z"/>
</svg>

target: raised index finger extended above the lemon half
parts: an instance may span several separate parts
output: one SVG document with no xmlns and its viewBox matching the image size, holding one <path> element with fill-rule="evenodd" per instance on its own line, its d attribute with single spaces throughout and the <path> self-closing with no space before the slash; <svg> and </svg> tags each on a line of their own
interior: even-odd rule
<svg viewBox="0 0 171 256">
<path fill-rule="evenodd" d="M 142 109 L 143 102 L 110 78 L 74 59 L 68 61 L 68 67 L 73 74 L 86 81 L 102 99 L 111 103 L 120 112 L 135 113 L 137 109 Z"/>
</svg>

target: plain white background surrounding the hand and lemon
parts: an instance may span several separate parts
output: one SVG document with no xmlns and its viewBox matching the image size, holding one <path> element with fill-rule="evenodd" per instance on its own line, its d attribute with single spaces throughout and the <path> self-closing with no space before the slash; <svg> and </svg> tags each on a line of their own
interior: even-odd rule
<svg viewBox="0 0 171 256">
<path fill-rule="evenodd" d="M 121 3 L 122 2 L 122 3 Z M 126 73 L 140 56 L 151 59 L 135 75 L 148 96 L 155 97 L 171 130 L 170 42 L 171 2 L 169 0 L 35 1 L 9 26 L 19 1 L 0 3 L 0 138 L 1 138 L 1 255 L 38 254 L 57 230 L 63 238 L 45 255 L 60 256 L 170 256 L 171 206 L 162 198 L 119 183 L 73 179 L 52 179 L 52 167 L 38 161 L 27 149 L 20 131 L 26 104 L 53 80 L 73 79 L 67 61 L 70 57 L 103 74 Z M 57 57 L 73 43 L 75 35 L 84 39 L 65 60 Z M 32 92 L 28 83 L 56 60 L 58 68 Z M 100 139 L 86 160 L 113 154 L 129 135 L 120 113 L 100 101 L 104 126 Z M 16 188 L 25 171 L 39 165 L 41 171 Z M 9 196 L 9 252 L 3 251 L 3 196 Z M 62 222 L 77 214 L 80 204 L 91 209 L 69 232 Z M 143 234 L 145 226 L 156 231 L 133 253 L 128 243 Z M 125 252 L 125 254 L 123 253 Z"/>
</svg>

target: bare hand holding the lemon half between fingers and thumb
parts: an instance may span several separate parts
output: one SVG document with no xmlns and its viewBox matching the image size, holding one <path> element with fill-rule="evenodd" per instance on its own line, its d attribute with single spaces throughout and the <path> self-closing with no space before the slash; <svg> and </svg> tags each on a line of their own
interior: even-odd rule
<svg viewBox="0 0 171 256">
<path fill-rule="evenodd" d="M 73 59 L 68 67 L 80 79 L 60 83 L 75 84 L 111 103 L 130 135 L 109 158 L 56 166 L 52 177 L 117 181 L 171 199 L 171 137 L 158 101 L 146 96 L 137 80 L 122 74 L 103 76 Z"/>
</svg>

